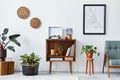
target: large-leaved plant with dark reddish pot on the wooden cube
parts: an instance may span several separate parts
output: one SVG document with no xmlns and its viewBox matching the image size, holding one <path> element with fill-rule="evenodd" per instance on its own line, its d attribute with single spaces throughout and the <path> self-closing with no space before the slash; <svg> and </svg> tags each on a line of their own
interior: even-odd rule
<svg viewBox="0 0 120 80">
<path fill-rule="evenodd" d="M 16 39 L 20 36 L 20 34 L 13 34 L 13 35 L 7 36 L 8 31 L 9 29 L 5 28 L 3 32 L 0 34 L 0 61 L 5 61 L 6 49 L 9 49 L 15 52 L 14 46 L 7 46 L 10 42 L 13 42 L 18 46 L 21 46 Z"/>
</svg>

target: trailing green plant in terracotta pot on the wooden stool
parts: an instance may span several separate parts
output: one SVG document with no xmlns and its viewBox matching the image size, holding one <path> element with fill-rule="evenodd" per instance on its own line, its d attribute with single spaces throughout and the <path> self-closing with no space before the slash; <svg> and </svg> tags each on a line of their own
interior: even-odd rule
<svg viewBox="0 0 120 80">
<path fill-rule="evenodd" d="M 93 45 L 85 45 L 82 46 L 82 50 L 80 51 L 80 54 L 86 53 L 86 57 L 87 58 L 92 58 L 93 57 L 93 53 L 97 53 L 97 47 L 93 46 Z M 97 55 L 99 56 L 100 53 L 97 53 Z"/>
</svg>

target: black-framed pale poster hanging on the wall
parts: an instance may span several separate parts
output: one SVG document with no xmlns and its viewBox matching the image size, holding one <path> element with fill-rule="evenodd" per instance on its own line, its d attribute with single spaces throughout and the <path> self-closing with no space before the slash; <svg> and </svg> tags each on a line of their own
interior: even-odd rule
<svg viewBox="0 0 120 80">
<path fill-rule="evenodd" d="M 83 34 L 106 34 L 106 5 L 83 5 Z"/>
</svg>

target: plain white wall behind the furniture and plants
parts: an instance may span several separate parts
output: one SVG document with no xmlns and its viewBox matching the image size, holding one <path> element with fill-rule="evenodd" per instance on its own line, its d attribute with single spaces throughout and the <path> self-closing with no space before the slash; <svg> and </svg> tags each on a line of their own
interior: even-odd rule
<svg viewBox="0 0 120 80">
<path fill-rule="evenodd" d="M 83 35 L 83 4 L 106 4 L 106 35 Z M 15 70 L 21 71 L 19 56 L 24 53 L 35 52 L 40 55 L 40 71 L 48 71 L 46 62 L 46 43 L 49 26 L 72 27 L 73 37 L 77 39 L 77 60 L 73 63 L 73 71 L 85 71 L 85 55 L 80 55 L 81 46 L 94 44 L 101 52 L 101 56 L 94 55 L 95 71 L 101 71 L 105 40 L 120 40 L 120 0 L 0 0 L 0 31 L 5 27 L 9 34 L 19 33 L 22 47 L 15 45 L 16 52 L 8 51 L 8 57 L 15 61 Z M 30 9 L 29 18 L 18 18 L 16 12 L 21 6 Z M 29 21 L 39 17 L 42 26 L 33 29 Z M 12 43 L 11 43 L 12 44 Z M 14 45 L 14 44 L 13 44 Z M 64 67 L 63 67 L 64 66 Z M 53 63 L 53 71 L 69 71 L 68 63 Z"/>
</svg>

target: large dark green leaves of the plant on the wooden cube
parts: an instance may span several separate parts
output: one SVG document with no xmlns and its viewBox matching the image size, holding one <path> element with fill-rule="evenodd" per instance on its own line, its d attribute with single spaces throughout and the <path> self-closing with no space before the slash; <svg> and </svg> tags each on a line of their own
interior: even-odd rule
<svg viewBox="0 0 120 80">
<path fill-rule="evenodd" d="M 13 35 L 9 35 L 8 34 L 9 29 L 5 28 L 2 32 L 2 34 L 0 34 L 0 47 L 2 47 L 4 50 L 5 49 L 9 49 L 13 52 L 15 52 L 14 46 L 7 46 L 10 42 L 15 43 L 17 46 L 21 46 L 21 44 L 17 41 L 16 38 L 18 38 L 20 36 L 20 34 L 13 34 Z"/>
</svg>

